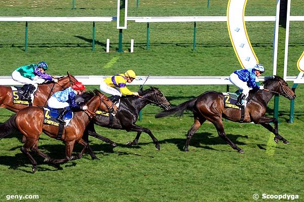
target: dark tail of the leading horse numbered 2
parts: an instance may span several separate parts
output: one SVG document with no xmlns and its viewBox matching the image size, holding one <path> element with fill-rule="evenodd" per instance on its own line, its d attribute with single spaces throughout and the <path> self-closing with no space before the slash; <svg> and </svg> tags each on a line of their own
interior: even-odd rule
<svg viewBox="0 0 304 202">
<path fill-rule="evenodd" d="M 176 116 L 176 117 L 180 117 L 183 115 L 185 110 L 195 112 L 196 110 L 194 109 L 194 107 L 195 107 L 195 102 L 197 99 L 198 99 L 198 97 L 188 100 L 184 103 L 181 103 L 173 108 L 170 108 L 169 110 L 167 110 L 165 112 L 158 113 L 157 115 L 155 115 L 155 118 L 162 118 L 162 117 L 166 117 L 166 116 L 169 116 L 172 114 L 174 114 L 174 116 Z"/>
</svg>

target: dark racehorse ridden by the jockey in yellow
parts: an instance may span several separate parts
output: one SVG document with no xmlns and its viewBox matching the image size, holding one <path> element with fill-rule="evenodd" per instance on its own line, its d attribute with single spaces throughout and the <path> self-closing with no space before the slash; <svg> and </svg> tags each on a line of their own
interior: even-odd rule
<svg viewBox="0 0 304 202">
<path fill-rule="evenodd" d="M 142 110 L 146 105 L 155 105 L 161 107 L 165 110 L 170 109 L 171 105 L 164 96 L 164 94 L 156 87 L 150 87 L 149 89 L 139 92 L 139 96 L 127 96 L 121 98 L 121 103 L 119 110 L 115 117 L 113 117 L 112 123 L 109 123 L 109 117 L 96 115 L 94 116 L 94 123 L 112 129 L 126 130 L 127 132 L 135 131 L 137 135 L 132 142 L 128 142 L 127 145 L 134 145 L 138 143 L 138 139 L 142 132 L 147 133 L 153 142 L 155 147 L 160 150 L 160 144 L 158 139 L 153 135 L 153 133 L 148 129 L 136 125 L 136 121 L 139 115 L 140 110 Z M 107 143 L 110 143 L 112 146 L 117 144 L 112 140 L 103 137 L 96 133 L 94 129 L 94 124 L 91 123 L 88 125 L 88 128 L 83 136 L 83 139 L 88 141 L 88 135 L 101 139 Z"/>
</svg>

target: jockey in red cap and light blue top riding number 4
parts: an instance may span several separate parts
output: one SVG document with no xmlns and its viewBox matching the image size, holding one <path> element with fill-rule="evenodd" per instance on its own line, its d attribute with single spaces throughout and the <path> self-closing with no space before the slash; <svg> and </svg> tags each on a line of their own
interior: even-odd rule
<svg viewBox="0 0 304 202">
<path fill-rule="evenodd" d="M 48 107 L 54 108 L 54 109 L 61 109 L 61 113 L 58 115 L 56 118 L 57 121 L 61 124 L 65 124 L 65 121 L 63 119 L 63 116 L 66 112 L 69 111 L 70 107 L 75 108 L 75 109 L 82 109 L 82 110 L 87 110 L 88 106 L 79 106 L 75 102 L 75 96 L 82 94 L 83 90 L 86 89 L 84 84 L 81 82 L 75 82 L 72 87 L 68 87 L 64 90 L 55 92 L 50 99 L 48 100 Z"/>
</svg>

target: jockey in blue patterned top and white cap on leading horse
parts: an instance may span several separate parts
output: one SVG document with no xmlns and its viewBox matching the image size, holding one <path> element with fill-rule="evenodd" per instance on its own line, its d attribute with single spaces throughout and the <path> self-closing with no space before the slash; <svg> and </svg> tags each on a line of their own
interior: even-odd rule
<svg viewBox="0 0 304 202">
<path fill-rule="evenodd" d="M 239 95 L 236 105 L 244 108 L 243 101 L 248 97 L 249 90 L 251 89 L 264 89 L 263 86 L 258 86 L 255 83 L 255 77 L 259 77 L 264 72 L 264 66 L 256 64 L 253 68 L 240 69 L 234 71 L 229 80 L 238 86 L 242 93 Z"/>
</svg>

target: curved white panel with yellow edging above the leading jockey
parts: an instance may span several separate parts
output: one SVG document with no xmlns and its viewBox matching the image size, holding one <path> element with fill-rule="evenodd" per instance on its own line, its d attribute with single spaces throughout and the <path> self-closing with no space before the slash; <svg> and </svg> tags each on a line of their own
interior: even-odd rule
<svg viewBox="0 0 304 202">
<path fill-rule="evenodd" d="M 230 0 L 227 5 L 227 28 L 231 43 L 242 68 L 252 68 L 258 59 L 251 46 L 244 15 L 247 0 Z"/>
</svg>

